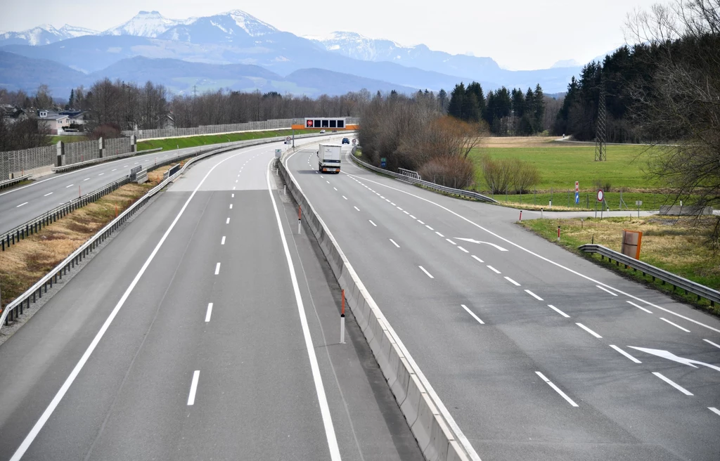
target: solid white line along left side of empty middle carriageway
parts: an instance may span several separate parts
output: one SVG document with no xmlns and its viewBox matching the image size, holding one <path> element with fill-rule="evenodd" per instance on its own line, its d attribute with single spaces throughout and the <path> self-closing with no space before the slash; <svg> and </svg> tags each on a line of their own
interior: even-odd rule
<svg viewBox="0 0 720 461">
<path fill-rule="evenodd" d="M 180 216 L 185 212 L 185 209 L 190 204 L 190 201 L 192 201 L 192 198 L 195 196 L 195 193 L 197 193 L 198 189 L 202 184 L 205 182 L 208 176 L 210 176 L 210 173 L 212 173 L 212 170 L 215 170 L 220 163 L 225 162 L 225 160 L 229 160 L 230 158 L 235 157 L 236 155 L 240 155 L 240 152 L 238 152 L 235 155 L 230 155 L 230 157 L 224 158 L 220 160 L 220 162 L 213 165 L 210 170 L 205 173 L 204 177 L 202 178 L 202 181 L 197 185 L 194 191 L 190 194 L 190 196 L 185 201 L 185 204 L 182 206 L 180 211 L 178 212 L 177 216 L 175 216 L 175 219 L 170 224 L 170 227 L 165 231 L 165 234 L 163 234 L 163 237 L 160 238 L 160 241 L 158 242 L 158 245 L 153 249 L 153 252 L 150 253 L 150 256 L 148 256 L 148 259 L 145 260 L 145 263 L 143 264 L 143 267 L 140 268 L 140 271 L 137 275 L 135 275 L 135 278 L 132 279 L 132 282 L 130 283 L 130 286 L 127 287 L 125 290 L 125 293 L 122 293 L 122 297 L 120 298 L 120 301 L 117 301 L 117 304 L 115 304 L 115 307 L 112 309 L 112 312 L 110 312 L 110 315 L 105 320 L 104 324 L 102 324 L 102 327 L 100 327 L 99 332 L 95 335 L 92 342 L 88 346 L 88 348 L 85 350 L 82 357 L 80 357 L 80 360 L 78 360 L 77 365 L 75 365 L 75 368 L 71 371 L 68 378 L 65 380 L 62 386 L 60 386 L 60 390 L 58 393 L 55 394 L 55 397 L 53 397 L 53 400 L 50 401 L 50 404 L 48 405 L 48 408 L 45 408 L 45 411 L 42 412 L 42 415 L 40 416 L 40 419 L 37 420 L 37 423 L 35 423 L 35 426 L 32 426 L 32 429 L 30 429 L 30 433 L 27 434 L 27 436 L 23 439 L 22 444 L 17 448 L 14 455 L 12 455 L 12 458 L 10 458 L 10 461 L 19 461 L 22 458 L 22 455 L 25 454 L 28 448 L 30 448 L 30 444 L 32 444 L 32 441 L 35 440 L 35 437 L 37 437 L 37 434 L 40 433 L 40 430 L 42 429 L 42 426 L 45 426 L 45 423 L 48 422 L 48 419 L 50 419 L 50 416 L 53 414 L 53 411 L 55 411 L 55 408 L 58 407 L 60 404 L 60 401 L 63 400 L 63 397 L 68 392 L 68 389 L 70 389 L 70 386 L 73 384 L 73 381 L 75 378 L 78 377 L 78 374 L 80 373 L 80 370 L 83 369 L 85 366 L 85 363 L 90 358 L 90 355 L 92 355 L 92 352 L 97 347 L 97 344 L 99 344 L 100 339 L 104 336 L 105 332 L 107 332 L 107 329 L 110 327 L 110 324 L 112 324 L 112 321 L 115 319 L 115 316 L 117 316 L 117 313 L 120 312 L 120 309 L 122 309 L 122 306 L 125 304 L 125 301 L 127 301 L 127 298 L 130 296 L 130 293 L 132 293 L 132 290 L 135 288 L 135 285 L 138 284 L 140 281 L 140 278 L 143 277 L 143 274 L 145 274 L 145 270 L 148 270 L 148 266 L 150 263 L 152 263 L 153 259 L 155 258 L 155 255 L 158 254 L 158 251 L 160 250 L 160 247 L 163 246 L 163 243 L 168 238 L 168 235 L 170 232 L 174 229 L 175 224 L 180 219 Z"/>
</svg>

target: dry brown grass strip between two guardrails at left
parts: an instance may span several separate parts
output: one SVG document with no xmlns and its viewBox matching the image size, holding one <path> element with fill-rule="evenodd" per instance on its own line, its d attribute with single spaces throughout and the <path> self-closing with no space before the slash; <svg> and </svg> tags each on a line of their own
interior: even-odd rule
<svg viewBox="0 0 720 461">
<path fill-rule="evenodd" d="M 90 237 L 163 179 L 169 167 L 148 173 L 148 182 L 127 184 L 0 252 L 2 306 L 24 293 Z M 158 179 L 159 178 L 159 179 Z"/>
</svg>

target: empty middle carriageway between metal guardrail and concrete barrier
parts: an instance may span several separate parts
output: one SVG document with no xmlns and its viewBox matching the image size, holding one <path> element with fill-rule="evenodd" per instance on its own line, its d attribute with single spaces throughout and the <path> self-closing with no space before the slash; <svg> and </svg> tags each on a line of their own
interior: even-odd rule
<svg viewBox="0 0 720 461">
<path fill-rule="evenodd" d="M 421 458 L 275 147 L 189 169 L 0 345 L 0 460 Z"/>
</svg>

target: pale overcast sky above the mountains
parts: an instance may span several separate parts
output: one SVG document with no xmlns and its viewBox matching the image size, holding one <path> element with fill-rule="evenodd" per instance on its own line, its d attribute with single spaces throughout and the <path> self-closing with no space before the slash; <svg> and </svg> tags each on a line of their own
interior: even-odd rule
<svg viewBox="0 0 720 461">
<path fill-rule="evenodd" d="M 242 9 L 295 35 L 359 32 L 401 45 L 424 43 L 452 54 L 489 56 L 513 70 L 548 68 L 558 60 L 581 63 L 624 43 L 626 14 L 658 0 L 514 1 L 228 1 L 228 0 L 0 0 L 0 30 L 39 24 L 104 30 L 140 10 L 173 19 Z"/>
</svg>

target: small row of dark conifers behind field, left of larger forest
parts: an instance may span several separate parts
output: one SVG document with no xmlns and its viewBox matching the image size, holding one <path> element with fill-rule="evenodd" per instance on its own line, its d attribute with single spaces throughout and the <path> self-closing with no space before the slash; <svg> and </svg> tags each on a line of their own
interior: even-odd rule
<svg viewBox="0 0 720 461">
<path fill-rule="evenodd" d="M 533 91 L 503 86 L 495 91 L 482 91 L 480 83 L 472 82 L 467 87 L 459 83 L 450 93 L 447 112 L 451 117 L 468 122 L 484 120 L 490 132 L 498 136 L 528 136 L 543 132 L 546 96 L 538 84 Z"/>
</svg>

